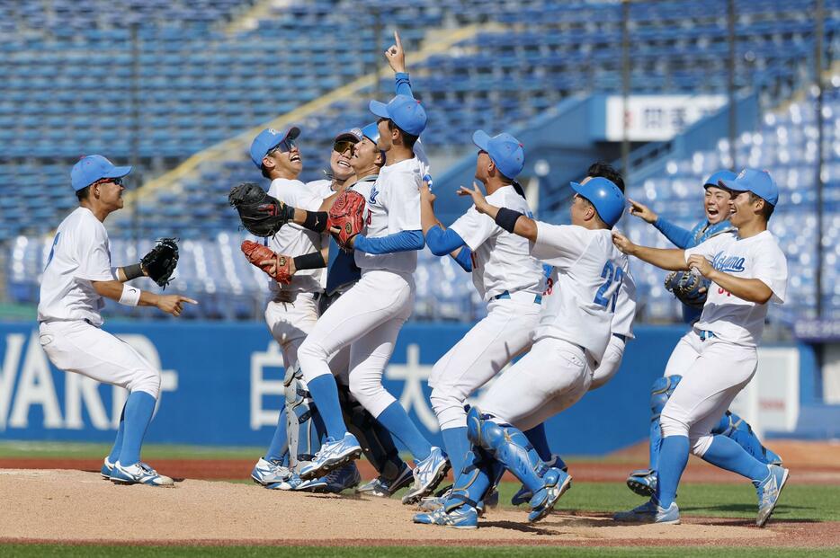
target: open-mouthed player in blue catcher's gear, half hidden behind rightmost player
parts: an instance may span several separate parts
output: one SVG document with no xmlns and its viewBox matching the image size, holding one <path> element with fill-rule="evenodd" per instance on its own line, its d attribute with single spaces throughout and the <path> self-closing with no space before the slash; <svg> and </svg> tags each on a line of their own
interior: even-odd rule
<svg viewBox="0 0 840 558">
<path fill-rule="evenodd" d="M 703 208 L 706 212 L 706 218 L 694 226 L 691 231 L 685 230 L 657 216 L 647 206 L 632 199 L 629 200 L 630 214 L 640 217 L 653 226 L 656 226 L 677 248 L 693 248 L 715 235 L 733 230 L 733 227 L 728 221 L 729 191 L 720 188 L 719 181 L 734 180 L 735 177 L 736 174 L 731 171 L 718 171 L 706 180 L 703 185 L 703 189 L 705 190 Z M 709 288 L 709 281 L 702 280 L 690 272 L 674 271 L 668 275 L 666 287 L 668 290 L 674 292 L 675 297 L 683 303 L 684 322 L 689 324 L 695 323 L 700 318 L 701 308 L 706 300 L 706 293 Z M 674 366 L 676 366 L 676 363 L 674 363 Z M 666 375 L 658 378 L 651 386 L 650 407 L 653 415 L 650 420 L 649 430 L 650 466 L 648 469 L 633 471 L 627 478 L 627 485 L 630 490 L 641 496 L 649 497 L 657 489 L 657 461 L 659 458 L 659 446 L 662 442 L 661 430 L 659 428 L 659 415 L 668 397 L 674 392 L 681 377 L 676 373 L 668 373 L 670 368 L 672 366 L 669 362 L 668 367 L 666 367 Z M 755 436 L 750 425 L 734 412 L 725 412 L 720 417 L 718 424 L 712 429 L 712 433 L 724 434 L 734 439 L 741 447 L 744 447 L 756 459 L 764 461 L 764 463 L 782 464 L 782 458 L 764 447 L 761 440 Z"/>
</svg>

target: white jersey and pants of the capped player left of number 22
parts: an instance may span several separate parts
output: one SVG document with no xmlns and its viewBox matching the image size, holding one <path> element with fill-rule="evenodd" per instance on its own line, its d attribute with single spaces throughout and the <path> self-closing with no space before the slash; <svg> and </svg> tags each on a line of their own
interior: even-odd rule
<svg viewBox="0 0 840 558">
<path fill-rule="evenodd" d="M 487 202 L 532 217 L 513 186 L 494 191 Z M 434 365 L 429 385 L 441 430 L 466 427 L 469 395 L 531 347 L 545 288 L 542 264 L 528 254 L 527 239 L 508 233 L 475 207 L 450 228 L 472 251 L 472 282 L 487 301 L 487 316 Z"/>
</svg>

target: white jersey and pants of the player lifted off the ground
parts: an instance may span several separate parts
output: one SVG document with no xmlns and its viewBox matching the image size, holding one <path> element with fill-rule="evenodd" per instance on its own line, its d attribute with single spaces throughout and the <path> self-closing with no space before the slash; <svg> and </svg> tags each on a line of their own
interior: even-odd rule
<svg viewBox="0 0 840 558">
<path fill-rule="evenodd" d="M 365 235 L 380 238 L 420 230 L 420 163 L 416 157 L 380 170 L 376 182 L 352 189 L 365 197 Z M 326 309 L 299 350 L 304 379 L 330 374 L 327 358 L 350 344 L 350 392 L 374 417 L 395 401 L 382 386 L 399 329 L 411 315 L 417 252 L 356 251 L 362 270 L 352 288 Z"/>
</svg>

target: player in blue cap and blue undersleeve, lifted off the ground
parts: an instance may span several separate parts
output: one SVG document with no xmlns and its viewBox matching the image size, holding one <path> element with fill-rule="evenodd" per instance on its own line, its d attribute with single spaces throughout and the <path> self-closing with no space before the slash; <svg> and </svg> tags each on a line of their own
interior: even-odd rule
<svg viewBox="0 0 840 558">
<path fill-rule="evenodd" d="M 426 122 L 420 102 L 397 95 L 388 104 L 371 102 L 380 117 L 378 147 L 386 163 L 376 182 L 353 185 L 366 200 L 366 234 L 347 245 L 362 270 L 360 279 L 327 308 L 299 351 L 300 366 L 320 410 L 329 438 L 301 477 L 311 478 L 359 456 L 358 440 L 342 421 L 335 379 L 327 358 L 350 345 L 350 392 L 415 456 L 417 499 L 431 492 L 448 462 L 417 430 L 405 409 L 382 386 L 381 377 L 399 329 L 414 305 L 416 251 L 424 247 L 420 230 L 421 167 L 413 147 Z"/>
</svg>

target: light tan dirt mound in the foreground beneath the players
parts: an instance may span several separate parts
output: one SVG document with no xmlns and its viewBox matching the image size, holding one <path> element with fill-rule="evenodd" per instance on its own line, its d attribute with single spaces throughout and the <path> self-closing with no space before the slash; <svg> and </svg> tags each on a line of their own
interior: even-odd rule
<svg viewBox="0 0 840 558">
<path fill-rule="evenodd" d="M 189 480 L 116 486 L 99 474 L 0 470 L 0 542 L 134 545 L 840 545 L 840 523 L 688 518 L 681 526 L 616 526 L 604 514 L 555 512 L 536 524 L 494 509 L 478 530 L 419 526 L 398 500 L 267 491 Z M 293 514 L 294 520 L 290 520 Z M 325 528 L 325 526 L 328 526 Z M 317 533 L 317 539 L 312 534 Z"/>
</svg>

